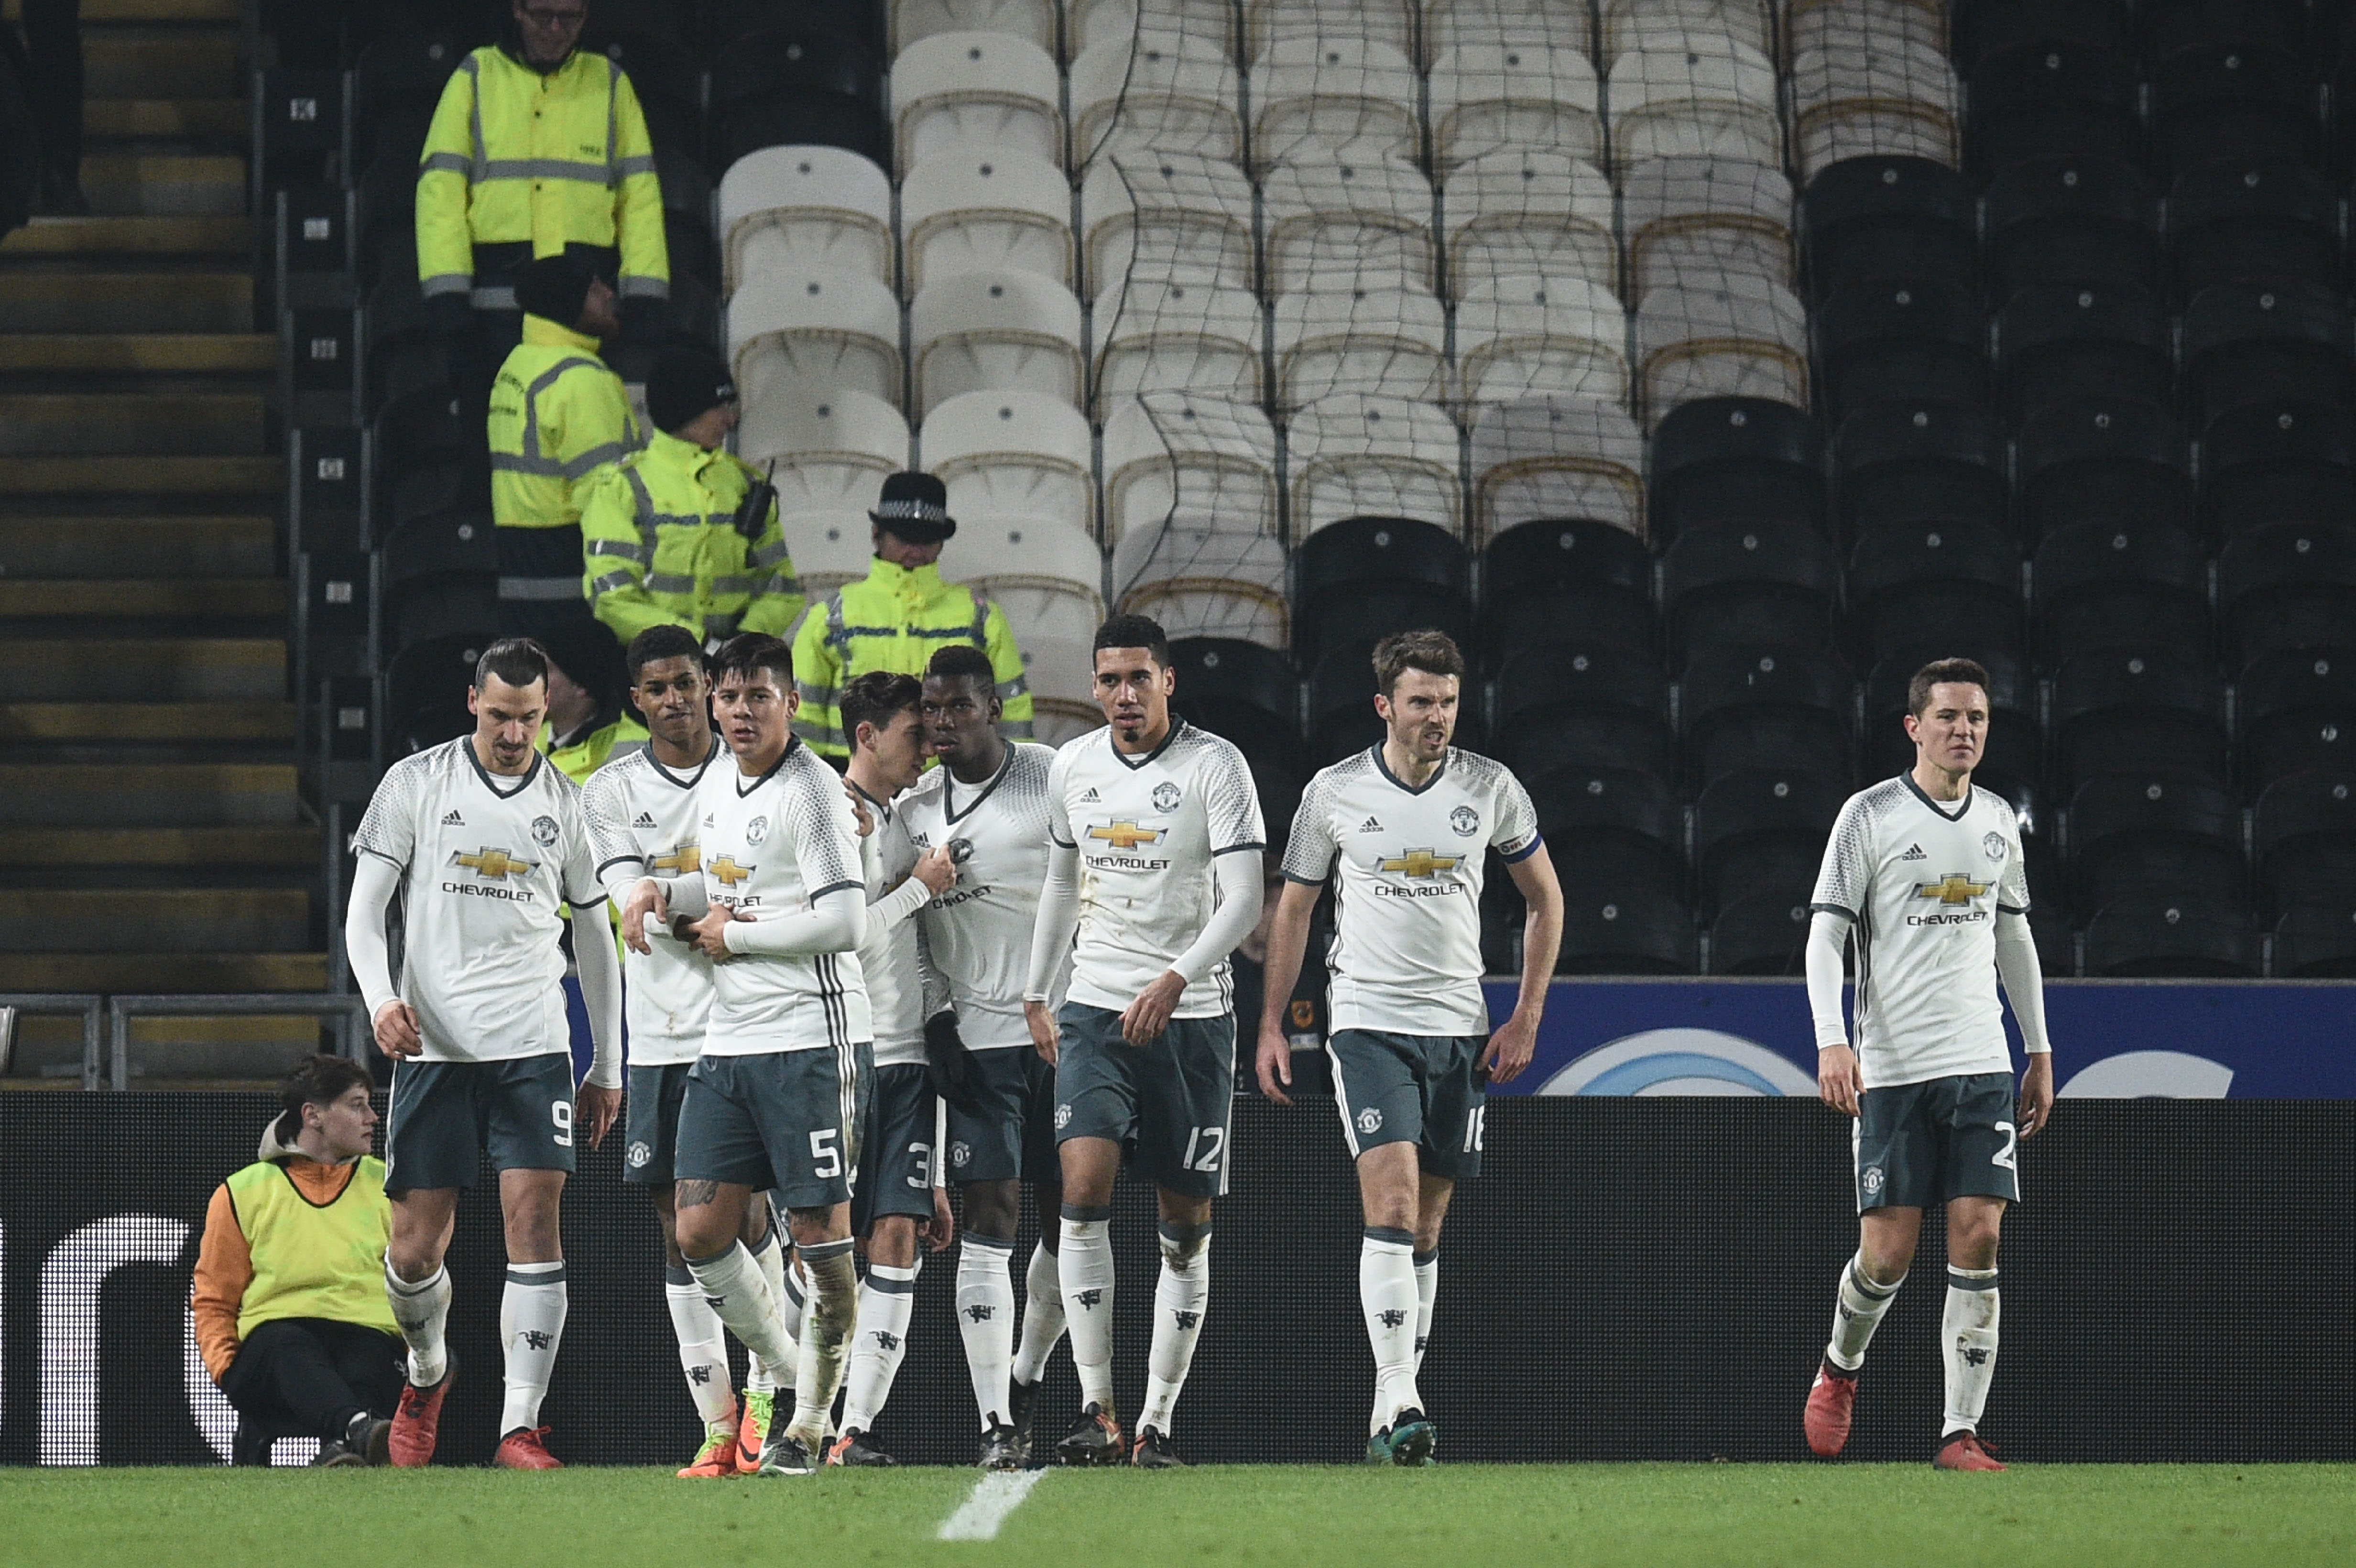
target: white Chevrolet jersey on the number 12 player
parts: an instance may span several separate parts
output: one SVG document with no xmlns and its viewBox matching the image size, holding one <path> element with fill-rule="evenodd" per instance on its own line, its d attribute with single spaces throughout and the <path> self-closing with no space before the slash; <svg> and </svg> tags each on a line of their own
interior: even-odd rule
<svg viewBox="0 0 2356 1568">
<path fill-rule="evenodd" d="M 1180 718 L 1145 756 L 1114 751 L 1110 727 L 1058 751 L 1048 833 L 1079 848 L 1070 996 L 1112 1012 L 1124 1012 L 1211 921 L 1211 862 L 1268 848 L 1244 753 Z M 1185 989 L 1173 1017 L 1218 1017 L 1232 1005 L 1220 958 Z"/>
</svg>

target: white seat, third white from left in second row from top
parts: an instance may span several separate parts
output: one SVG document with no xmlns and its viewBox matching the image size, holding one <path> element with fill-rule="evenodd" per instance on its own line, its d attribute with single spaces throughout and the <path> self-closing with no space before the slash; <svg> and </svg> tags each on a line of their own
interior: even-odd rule
<svg viewBox="0 0 2356 1568">
<path fill-rule="evenodd" d="M 1284 38 L 1251 68 L 1253 172 L 1369 146 L 1414 162 L 1421 82 L 1407 52 L 1364 38 Z"/>
</svg>

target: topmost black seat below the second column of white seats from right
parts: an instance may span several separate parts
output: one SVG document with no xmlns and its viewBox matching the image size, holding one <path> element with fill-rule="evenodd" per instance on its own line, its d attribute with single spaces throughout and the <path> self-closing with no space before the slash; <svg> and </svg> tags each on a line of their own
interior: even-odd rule
<svg viewBox="0 0 2356 1568">
<path fill-rule="evenodd" d="M 1824 438 L 1805 410 L 1767 398 L 1696 398 L 1652 436 L 1654 539 L 1694 523 L 1795 520 L 1824 527 Z"/>
</svg>

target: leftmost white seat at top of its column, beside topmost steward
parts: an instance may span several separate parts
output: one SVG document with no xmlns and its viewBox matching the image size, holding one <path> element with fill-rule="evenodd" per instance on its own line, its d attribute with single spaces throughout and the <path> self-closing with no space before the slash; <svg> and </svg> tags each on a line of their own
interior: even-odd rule
<svg viewBox="0 0 2356 1568">
<path fill-rule="evenodd" d="M 822 268 L 893 280 L 891 174 L 839 146 L 766 146 L 721 174 L 726 275 Z"/>
</svg>

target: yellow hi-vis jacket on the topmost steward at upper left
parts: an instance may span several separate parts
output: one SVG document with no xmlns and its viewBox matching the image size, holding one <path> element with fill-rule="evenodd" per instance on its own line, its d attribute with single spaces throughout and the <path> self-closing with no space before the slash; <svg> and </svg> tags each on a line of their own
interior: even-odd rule
<svg viewBox="0 0 2356 1568">
<path fill-rule="evenodd" d="M 521 242 L 535 257 L 568 242 L 617 250 L 624 299 L 671 294 L 655 144 L 629 78 L 603 54 L 575 49 L 540 75 L 485 45 L 434 106 L 417 162 L 419 292 L 474 292 L 478 308 L 514 311 L 514 290 L 474 287 L 474 247 Z"/>
</svg>

